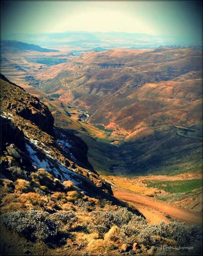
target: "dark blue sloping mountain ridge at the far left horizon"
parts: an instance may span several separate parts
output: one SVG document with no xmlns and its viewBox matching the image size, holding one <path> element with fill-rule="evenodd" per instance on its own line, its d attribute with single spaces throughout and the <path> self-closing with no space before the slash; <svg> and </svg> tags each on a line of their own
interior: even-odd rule
<svg viewBox="0 0 203 256">
<path fill-rule="evenodd" d="M 42 48 L 39 45 L 23 43 L 16 40 L 2 40 L 1 41 L 1 49 L 2 51 L 36 51 L 36 52 L 59 52 L 54 49 L 46 49 Z"/>
</svg>

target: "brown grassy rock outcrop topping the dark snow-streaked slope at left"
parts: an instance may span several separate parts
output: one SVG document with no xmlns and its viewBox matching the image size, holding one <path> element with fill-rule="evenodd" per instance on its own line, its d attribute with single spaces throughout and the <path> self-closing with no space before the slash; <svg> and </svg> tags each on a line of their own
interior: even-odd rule
<svg viewBox="0 0 203 256">
<path fill-rule="evenodd" d="M 20 86 L 1 80 L 2 107 L 35 123 L 42 131 L 54 135 L 54 117 L 38 98 L 30 96 Z"/>
</svg>

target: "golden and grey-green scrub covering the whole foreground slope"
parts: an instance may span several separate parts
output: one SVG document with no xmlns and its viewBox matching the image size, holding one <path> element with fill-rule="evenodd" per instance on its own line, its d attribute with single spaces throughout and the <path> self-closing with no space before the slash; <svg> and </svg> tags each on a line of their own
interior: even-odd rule
<svg viewBox="0 0 203 256">
<path fill-rule="evenodd" d="M 2 188 L 11 188 L 2 198 L 4 227 L 32 242 L 61 248 L 58 250 L 66 246 L 70 252 L 129 250 L 133 254 L 152 247 L 159 250 L 160 244 L 192 246 L 201 239 L 201 229 L 196 225 L 150 225 L 127 208 L 88 197 L 72 181 L 62 183 L 44 169 L 30 173 L 29 181 L 2 179 L 1 184 Z"/>
</svg>

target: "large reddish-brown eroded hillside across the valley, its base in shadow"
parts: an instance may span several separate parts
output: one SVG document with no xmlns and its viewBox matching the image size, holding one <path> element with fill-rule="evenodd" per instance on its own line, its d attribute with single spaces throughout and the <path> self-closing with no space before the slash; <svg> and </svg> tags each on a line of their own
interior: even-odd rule
<svg viewBox="0 0 203 256">
<path fill-rule="evenodd" d="M 88 111 L 86 121 L 110 133 L 111 143 L 119 145 L 106 145 L 106 155 L 104 144 L 79 135 L 90 148 L 88 157 L 96 170 L 173 174 L 193 166 L 200 169 L 200 51 L 88 52 L 67 62 L 42 90 Z"/>
</svg>

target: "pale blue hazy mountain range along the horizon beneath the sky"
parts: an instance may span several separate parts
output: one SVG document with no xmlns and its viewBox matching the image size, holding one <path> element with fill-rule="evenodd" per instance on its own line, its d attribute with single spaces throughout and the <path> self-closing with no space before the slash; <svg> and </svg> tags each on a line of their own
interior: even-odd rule
<svg viewBox="0 0 203 256">
<path fill-rule="evenodd" d="M 92 49 L 152 49 L 160 45 L 199 46 L 198 38 L 188 39 L 180 37 L 160 37 L 142 33 L 125 32 L 85 32 L 67 31 L 62 33 L 43 34 L 11 34 L 6 40 L 18 40 L 26 43 L 35 43 L 40 46 L 59 50 L 92 50 Z M 99 50 L 100 51 L 100 50 Z"/>
</svg>

